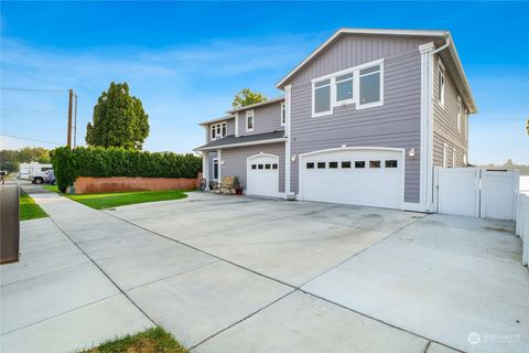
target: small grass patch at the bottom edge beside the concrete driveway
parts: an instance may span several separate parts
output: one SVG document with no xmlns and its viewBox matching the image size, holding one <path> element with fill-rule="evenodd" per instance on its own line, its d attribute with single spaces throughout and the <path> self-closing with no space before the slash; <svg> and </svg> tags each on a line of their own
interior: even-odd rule
<svg viewBox="0 0 529 353">
<path fill-rule="evenodd" d="M 188 353 L 171 333 L 161 328 L 106 342 L 80 353 Z"/>
</svg>

